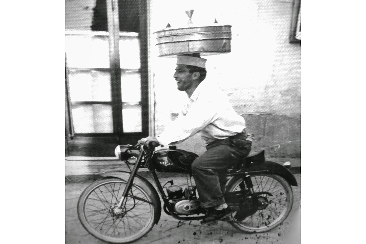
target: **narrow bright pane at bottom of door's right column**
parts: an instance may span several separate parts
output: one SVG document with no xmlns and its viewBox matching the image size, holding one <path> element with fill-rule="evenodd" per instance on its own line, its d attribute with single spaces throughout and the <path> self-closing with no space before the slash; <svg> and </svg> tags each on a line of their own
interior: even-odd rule
<svg viewBox="0 0 366 244">
<path fill-rule="evenodd" d="M 123 132 L 141 132 L 141 105 L 123 104 L 122 106 Z"/>
</svg>

